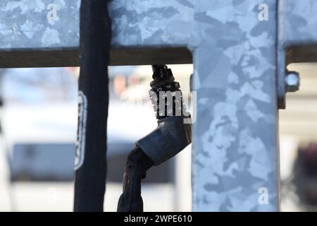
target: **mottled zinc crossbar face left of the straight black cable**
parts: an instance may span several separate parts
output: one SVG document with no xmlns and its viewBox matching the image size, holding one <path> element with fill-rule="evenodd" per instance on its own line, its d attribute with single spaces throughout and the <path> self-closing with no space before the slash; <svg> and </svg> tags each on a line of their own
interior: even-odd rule
<svg viewBox="0 0 317 226">
<path fill-rule="evenodd" d="M 80 0 L 1 0 L 0 49 L 78 47 L 79 7 Z"/>
</svg>

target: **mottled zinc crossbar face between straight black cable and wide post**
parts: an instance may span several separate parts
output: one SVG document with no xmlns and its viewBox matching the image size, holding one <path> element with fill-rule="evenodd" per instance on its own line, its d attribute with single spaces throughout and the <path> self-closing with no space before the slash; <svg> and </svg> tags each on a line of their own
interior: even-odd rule
<svg viewBox="0 0 317 226">
<path fill-rule="evenodd" d="M 113 44 L 117 46 L 187 46 L 194 5 L 188 0 L 114 0 Z"/>
</svg>

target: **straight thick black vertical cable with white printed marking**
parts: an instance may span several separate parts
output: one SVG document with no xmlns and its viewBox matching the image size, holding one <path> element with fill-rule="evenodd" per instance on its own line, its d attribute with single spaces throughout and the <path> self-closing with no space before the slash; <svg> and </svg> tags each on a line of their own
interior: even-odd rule
<svg viewBox="0 0 317 226">
<path fill-rule="evenodd" d="M 103 211 L 110 44 L 108 1 L 82 0 L 74 211 Z"/>
</svg>

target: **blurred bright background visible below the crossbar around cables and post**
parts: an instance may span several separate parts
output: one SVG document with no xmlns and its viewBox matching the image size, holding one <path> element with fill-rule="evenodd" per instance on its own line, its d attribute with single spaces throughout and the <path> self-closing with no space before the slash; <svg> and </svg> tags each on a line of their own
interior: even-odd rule
<svg viewBox="0 0 317 226">
<path fill-rule="evenodd" d="M 192 65 L 169 67 L 191 106 Z M 302 84 L 280 111 L 281 208 L 316 211 L 317 64 L 289 69 L 299 71 Z M 156 128 L 151 74 L 151 66 L 109 68 L 105 211 L 116 211 L 125 157 Z M 73 210 L 78 75 L 78 68 L 0 69 L 0 211 Z M 191 210 L 190 146 L 149 171 L 142 196 L 145 211 Z"/>
</svg>

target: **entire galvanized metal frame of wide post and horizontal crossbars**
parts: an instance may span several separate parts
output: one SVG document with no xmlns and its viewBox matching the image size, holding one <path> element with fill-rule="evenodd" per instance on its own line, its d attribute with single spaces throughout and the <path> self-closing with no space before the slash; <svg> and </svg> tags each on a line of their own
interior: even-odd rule
<svg viewBox="0 0 317 226">
<path fill-rule="evenodd" d="M 78 66 L 79 6 L 1 1 L 0 67 Z M 317 1 L 113 0 L 109 8 L 112 65 L 194 64 L 193 210 L 278 211 L 285 70 L 317 59 Z"/>
</svg>

